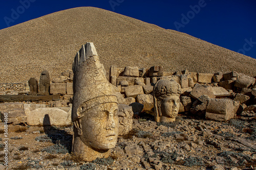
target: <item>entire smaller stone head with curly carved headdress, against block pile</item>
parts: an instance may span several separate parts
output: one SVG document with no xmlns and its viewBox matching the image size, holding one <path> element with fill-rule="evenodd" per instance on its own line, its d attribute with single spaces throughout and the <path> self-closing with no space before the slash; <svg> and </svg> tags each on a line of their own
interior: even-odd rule
<svg viewBox="0 0 256 170">
<path fill-rule="evenodd" d="M 159 80 L 154 87 L 156 122 L 174 122 L 179 112 L 181 86 L 174 80 Z"/>
</svg>

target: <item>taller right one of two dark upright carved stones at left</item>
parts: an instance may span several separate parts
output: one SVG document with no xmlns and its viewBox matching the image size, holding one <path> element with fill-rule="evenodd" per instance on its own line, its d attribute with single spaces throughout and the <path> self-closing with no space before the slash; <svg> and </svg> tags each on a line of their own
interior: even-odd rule
<svg viewBox="0 0 256 170">
<path fill-rule="evenodd" d="M 40 95 L 49 95 L 50 76 L 47 70 L 44 70 L 41 72 L 39 87 L 40 87 L 40 92 L 39 92 Z"/>
</svg>

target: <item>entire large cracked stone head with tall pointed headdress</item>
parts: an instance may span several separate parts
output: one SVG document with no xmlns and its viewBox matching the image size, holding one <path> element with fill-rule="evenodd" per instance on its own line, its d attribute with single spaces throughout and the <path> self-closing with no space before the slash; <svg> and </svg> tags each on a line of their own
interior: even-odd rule
<svg viewBox="0 0 256 170">
<path fill-rule="evenodd" d="M 85 161 L 108 157 L 118 137 L 118 106 L 93 43 L 82 45 L 73 63 L 73 152 Z"/>
</svg>

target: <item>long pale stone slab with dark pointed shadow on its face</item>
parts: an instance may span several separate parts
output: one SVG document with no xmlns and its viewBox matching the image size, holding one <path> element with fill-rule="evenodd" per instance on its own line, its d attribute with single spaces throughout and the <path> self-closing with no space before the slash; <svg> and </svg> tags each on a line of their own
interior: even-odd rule
<svg viewBox="0 0 256 170">
<path fill-rule="evenodd" d="M 30 126 L 68 126 L 71 125 L 71 108 L 38 108 L 27 110 L 27 124 Z"/>
</svg>

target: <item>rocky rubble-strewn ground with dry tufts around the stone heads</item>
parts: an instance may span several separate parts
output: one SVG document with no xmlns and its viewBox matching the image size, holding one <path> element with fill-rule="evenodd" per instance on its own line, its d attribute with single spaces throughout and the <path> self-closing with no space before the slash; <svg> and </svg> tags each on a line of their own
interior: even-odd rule
<svg viewBox="0 0 256 170">
<path fill-rule="evenodd" d="M 70 152 L 72 127 L 27 126 L 10 132 L 9 169 L 256 169 L 252 111 L 227 122 L 182 114 L 174 123 L 156 123 L 150 114 L 139 116 L 109 158 L 92 162 Z M 4 134 L 0 137 L 4 163 Z"/>
</svg>

